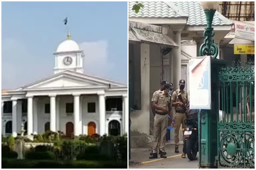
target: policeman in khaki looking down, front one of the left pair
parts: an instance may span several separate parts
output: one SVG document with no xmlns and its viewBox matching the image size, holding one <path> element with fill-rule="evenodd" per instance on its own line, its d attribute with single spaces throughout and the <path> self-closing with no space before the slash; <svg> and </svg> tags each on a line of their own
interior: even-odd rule
<svg viewBox="0 0 256 170">
<path fill-rule="evenodd" d="M 160 157 L 166 158 L 165 152 L 165 138 L 167 132 L 168 125 L 168 115 L 172 120 L 171 113 L 171 97 L 169 95 L 169 91 L 172 90 L 171 84 L 164 85 L 162 93 L 156 93 L 153 101 L 153 108 L 155 109 L 155 117 L 154 117 L 154 145 L 152 153 L 149 159 L 157 158 L 157 146 L 160 137 Z M 159 136 L 160 134 L 160 136 Z"/>
</svg>

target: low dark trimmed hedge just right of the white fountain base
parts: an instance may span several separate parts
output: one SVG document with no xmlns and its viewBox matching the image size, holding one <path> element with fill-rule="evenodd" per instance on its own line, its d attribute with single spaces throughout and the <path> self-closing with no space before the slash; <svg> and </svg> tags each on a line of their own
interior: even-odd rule
<svg viewBox="0 0 256 170">
<path fill-rule="evenodd" d="M 54 159 L 54 153 L 50 151 L 46 152 L 37 152 L 37 151 L 28 151 L 25 154 L 26 159 L 44 159 L 44 160 L 53 160 Z"/>
</svg>

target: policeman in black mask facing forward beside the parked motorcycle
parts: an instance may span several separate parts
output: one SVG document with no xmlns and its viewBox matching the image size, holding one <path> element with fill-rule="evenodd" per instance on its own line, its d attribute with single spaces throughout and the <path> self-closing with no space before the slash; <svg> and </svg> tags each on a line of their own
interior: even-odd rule
<svg viewBox="0 0 256 170">
<path fill-rule="evenodd" d="M 188 93 L 184 90 L 185 88 L 185 80 L 180 80 L 179 82 L 179 89 L 175 90 L 172 94 L 172 106 L 175 106 L 175 136 L 174 136 L 174 141 L 175 141 L 175 153 L 179 153 L 179 130 L 180 130 L 180 124 L 182 124 L 182 128 L 185 127 L 185 120 L 186 118 L 186 104 L 188 102 Z M 183 102 L 179 99 L 178 95 L 181 95 L 181 98 Z M 184 136 L 184 134 L 183 134 Z M 183 137 L 184 140 L 184 137 Z M 186 157 L 185 151 L 183 151 L 182 158 Z"/>
</svg>

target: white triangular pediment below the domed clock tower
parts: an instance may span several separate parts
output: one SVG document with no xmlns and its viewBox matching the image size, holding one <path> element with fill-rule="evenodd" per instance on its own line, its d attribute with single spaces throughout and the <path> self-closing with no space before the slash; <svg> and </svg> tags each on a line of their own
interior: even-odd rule
<svg viewBox="0 0 256 170">
<path fill-rule="evenodd" d="M 53 74 L 44 79 L 22 86 L 16 90 L 22 89 L 45 89 L 45 88 L 68 88 L 68 87 L 97 87 L 97 86 L 109 86 L 111 87 L 124 87 L 124 84 L 120 84 L 114 81 L 102 79 L 99 77 L 77 73 L 71 70 L 65 70 L 57 74 Z M 16 91 L 15 90 L 15 91 Z"/>
</svg>

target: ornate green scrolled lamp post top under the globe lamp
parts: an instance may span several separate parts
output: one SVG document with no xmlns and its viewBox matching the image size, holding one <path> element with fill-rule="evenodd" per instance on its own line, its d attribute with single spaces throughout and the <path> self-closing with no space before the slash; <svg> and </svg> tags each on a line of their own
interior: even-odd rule
<svg viewBox="0 0 256 170">
<path fill-rule="evenodd" d="M 212 58 L 216 58 L 218 55 L 218 47 L 213 40 L 214 31 L 212 28 L 212 20 L 213 20 L 215 11 L 216 10 L 204 10 L 206 21 L 207 21 L 207 27 L 205 28 L 203 33 L 204 41 L 199 48 L 200 56 L 208 55 L 208 56 L 211 56 Z"/>
</svg>

